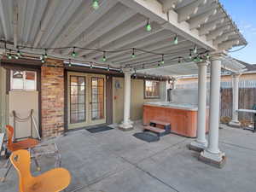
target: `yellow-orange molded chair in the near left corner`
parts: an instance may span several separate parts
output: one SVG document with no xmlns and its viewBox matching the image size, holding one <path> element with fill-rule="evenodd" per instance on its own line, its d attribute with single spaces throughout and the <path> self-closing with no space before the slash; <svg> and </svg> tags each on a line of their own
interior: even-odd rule
<svg viewBox="0 0 256 192">
<path fill-rule="evenodd" d="M 20 178 L 20 192 L 59 192 L 66 189 L 71 181 L 70 173 L 64 168 L 52 169 L 38 177 L 30 172 L 30 154 L 27 150 L 17 150 L 10 156 Z"/>
</svg>

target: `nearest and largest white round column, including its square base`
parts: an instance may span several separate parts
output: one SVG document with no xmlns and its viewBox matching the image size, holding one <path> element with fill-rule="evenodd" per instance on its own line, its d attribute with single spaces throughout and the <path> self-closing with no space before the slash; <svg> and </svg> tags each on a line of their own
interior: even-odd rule
<svg viewBox="0 0 256 192">
<path fill-rule="evenodd" d="M 222 53 L 211 56 L 211 87 L 208 146 L 201 152 L 200 160 L 220 165 L 224 161 L 224 153 L 218 148 L 220 78 Z"/>
</svg>

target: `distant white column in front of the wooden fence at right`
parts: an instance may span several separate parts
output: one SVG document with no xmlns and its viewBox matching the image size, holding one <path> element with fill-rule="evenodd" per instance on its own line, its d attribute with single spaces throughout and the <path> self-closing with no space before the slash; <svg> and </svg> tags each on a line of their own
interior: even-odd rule
<svg viewBox="0 0 256 192">
<path fill-rule="evenodd" d="M 238 101 L 239 101 L 239 78 L 240 74 L 232 75 L 232 83 L 233 83 L 233 112 L 232 112 L 232 120 L 230 121 L 231 126 L 240 127 L 240 122 L 238 120 Z"/>
</svg>

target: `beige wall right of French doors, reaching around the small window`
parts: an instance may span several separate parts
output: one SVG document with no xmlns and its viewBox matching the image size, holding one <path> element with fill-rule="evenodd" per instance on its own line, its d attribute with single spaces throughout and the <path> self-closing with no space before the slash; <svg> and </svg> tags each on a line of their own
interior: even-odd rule
<svg viewBox="0 0 256 192">
<path fill-rule="evenodd" d="M 119 88 L 117 88 L 119 84 Z M 166 82 L 160 83 L 160 99 L 144 99 L 144 80 L 131 79 L 131 120 L 143 119 L 143 103 L 166 99 Z M 113 78 L 113 123 L 124 117 L 124 78 Z"/>
</svg>

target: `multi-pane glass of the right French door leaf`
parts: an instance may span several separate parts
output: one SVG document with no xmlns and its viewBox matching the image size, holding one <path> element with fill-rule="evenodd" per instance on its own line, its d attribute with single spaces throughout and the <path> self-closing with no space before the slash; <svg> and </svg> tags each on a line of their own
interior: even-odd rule
<svg viewBox="0 0 256 192">
<path fill-rule="evenodd" d="M 91 119 L 104 119 L 103 78 L 91 78 Z"/>
</svg>

